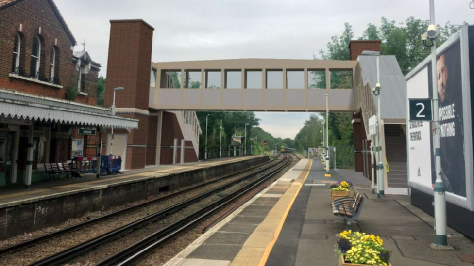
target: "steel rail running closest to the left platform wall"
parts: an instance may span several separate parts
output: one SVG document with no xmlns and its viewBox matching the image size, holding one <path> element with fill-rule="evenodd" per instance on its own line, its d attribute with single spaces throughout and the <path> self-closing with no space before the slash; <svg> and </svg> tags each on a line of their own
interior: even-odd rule
<svg viewBox="0 0 474 266">
<path fill-rule="evenodd" d="M 253 166 L 251 168 L 247 168 L 247 169 L 244 169 L 244 170 L 241 170 L 241 171 L 238 171 L 238 172 L 234 172 L 234 173 L 231 173 L 231 174 L 228 174 L 228 175 L 224 175 L 218 179 L 215 179 L 215 180 L 211 180 L 209 182 L 205 182 L 205 183 L 202 183 L 202 184 L 199 184 L 197 186 L 193 186 L 193 187 L 190 187 L 190 188 L 186 188 L 186 189 L 183 189 L 183 190 L 180 190 L 180 191 L 177 191 L 175 193 L 172 193 L 172 194 L 169 194 L 169 195 L 166 195 L 166 196 L 163 196 L 163 197 L 160 197 L 160 198 L 157 198 L 157 199 L 154 199 L 154 200 L 151 200 L 151 201 L 147 201 L 147 202 L 144 202 L 144 203 L 140 203 L 138 205 L 135 205 L 135 206 L 130 206 L 130 207 L 127 207 L 125 209 L 121 209 L 121 210 L 118 210 L 118 211 L 115 211 L 115 212 L 112 212 L 110 214 L 106 214 L 106 215 L 103 215 L 101 217 L 97 217 L 97 218 L 94 218 L 94 219 L 90 219 L 90 220 L 86 220 L 86 221 L 83 221 L 83 222 L 80 222 L 78 224 L 75 224 L 75 225 L 72 225 L 72 226 L 68 226 L 66 228 L 63 228 L 63 229 L 60 229 L 58 231 L 54 231 L 54 232 L 51 232 L 49 234 L 46 234 L 46 235 L 41 235 L 41 236 L 38 236 L 38 237 L 35 237 L 33 239 L 30 239 L 30 240 L 26 240 L 26 241 L 23 241 L 23 242 L 20 242 L 18 244 L 15 244 L 15 245 L 12 245 L 12 246 L 9 246 L 9 247 L 6 247 L 6 248 L 3 248 L 3 249 L 0 249 L 0 257 L 8 254 L 8 253 L 13 253 L 13 252 L 16 252 L 18 250 L 22 250 L 24 248 L 27 248 L 27 247 L 31 247 L 31 246 L 34 246 L 38 243 L 41 243 L 41 242 L 44 242 L 46 240 L 49 240 L 53 237 L 56 237 L 56 236 L 59 236 L 59 235 L 65 235 L 69 232 L 72 232 L 72 231 L 75 231 L 75 230 L 78 230 L 78 229 L 81 229 L 85 226 L 89 226 L 89 225 L 92 225 L 96 222 L 99 222 L 99 221 L 102 221 L 104 219 L 110 219 L 114 216 L 117 216 L 117 215 L 121 215 L 121 214 L 124 214 L 126 212 L 129 212 L 129 211 L 133 211 L 135 209 L 138 209 L 138 208 L 141 208 L 141 207 L 144 207 L 146 205 L 149 205 L 149 204 L 152 204 L 152 203 L 156 203 L 156 202 L 159 202 L 159 201 L 163 201 L 163 200 L 167 200 L 169 198 L 172 198 L 172 197 L 175 197 L 175 196 L 179 196 L 181 194 L 184 194 L 186 192 L 189 192 L 193 189 L 196 189 L 196 188 L 201 188 L 201 187 L 204 187 L 204 186 L 207 186 L 207 185 L 210 185 L 212 183 L 215 183 L 215 182 L 218 182 L 218 181 L 221 181 L 223 179 L 226 179 L 226 178 L 230 178 L 234 175 L 237 175 L 237 174 L 240 174 L 242 172 L 247 172 L 247 171 L 250 171 L 250 170 L 254 170 L 256 168 L 259 168 L 259 167 L 262 167 L 262 166 L 265 166 L 265 165 L 268 165 L 270 163 L 272 163 L 273 161 L 275 161 L 277 159 L 278 156 L 275 156 L 273 159 L 271 159 L 270 161 L 268 162 L 265 162 L 265 163 L 261 163 L 261 164 L 258 164 L 256 166 Z"/>
</svg>

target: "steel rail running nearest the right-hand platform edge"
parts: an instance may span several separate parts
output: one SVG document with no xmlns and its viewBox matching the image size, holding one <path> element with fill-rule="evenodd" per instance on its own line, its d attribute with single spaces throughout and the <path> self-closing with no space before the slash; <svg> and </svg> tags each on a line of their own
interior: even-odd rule
<svg viewBox="0 0 474 266">
<path fill-rule="evenodd" d="M 169 226 L 153 233 L 152 235 L 147 236 L 146 238 L 136 242 L 135 244 L 120 250 L 114 255 L 102 260 L 101 262 L 95 264 L 94 266 L 126 266 L 131 265 L 139 258 L 147 255 L 152 251 L 153 248 L 163 244 L 169 239 L 174 238 L 175 236 L 183 233 L 191 226 L 200 222 L 201 220 L 207 218 L 209 215 L 213 214 L 215 211 L 219 210 L 221 207 L 232 203 L 237 198 L 241 197 L 250 190 L 258 187 L 263 182 L 267 181 L 271 176 L 280 172 L 282 169 L 287 167 L 293 159 L 288 159 L 286 162 L 279 166 L 278 168 L 272 170 L 269 173 L 262 175 L 257 180 L 247 184 L 245 187 L 223 197 L 215 203 L 211 203 L 206 207 L 188 215 L 184 219 L 181 219 Z"/>
</svg>

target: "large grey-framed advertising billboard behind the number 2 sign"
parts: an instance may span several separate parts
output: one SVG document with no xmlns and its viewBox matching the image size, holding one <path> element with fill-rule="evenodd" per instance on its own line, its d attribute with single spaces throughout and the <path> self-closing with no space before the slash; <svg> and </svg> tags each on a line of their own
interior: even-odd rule
<svg viewBox="0 0 474 266">
<path fill-rule="evenodd" d="M 469 73 L 469 46 L 474 42 L 469 42 L 468 28 L 472 26 L 461 28 L 437 49 L 435 67 L 440 118 L 440 174 L 446 187 L 446 199 L 474 211 Z M 428 57 L 406 75 L 408 99 L 432 98 L 431 67 Z M 407 113 L 410 113 L 409 105 L 407 108 Z M 407 125 L 409 186 L 432 195 L 436 180 L 433 124 L 407 118 Z"/>
</svg>

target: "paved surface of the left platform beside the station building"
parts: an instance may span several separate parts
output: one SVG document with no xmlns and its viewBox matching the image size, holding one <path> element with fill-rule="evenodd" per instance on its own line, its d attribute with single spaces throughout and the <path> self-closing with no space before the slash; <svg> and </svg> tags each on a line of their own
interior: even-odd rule
<svg viewBox="0 0 474 266">
<path fill-rule="evenodd" d="M 26 203 L 37 198 L 73 194 L 90 189 L 101 189 L 110 185 L 125 184 L 142 179 L 160 178 L 169 174 L 210 168 L 222 164 L 250 160 L 256 157 L 259 156 L 219 158 L 192 163 L 153 166 L 139 170 L 127 170 L 117 175 L 101 175 L 99 179 L 96 178 L 95 174 L 84 174 L 80 178 L 63 178 L 37 182 L 29 189 L 25 189 L 23 186 L 7 186 L 0 188 L 0 208 L 15 203 Z"/>
</svg>

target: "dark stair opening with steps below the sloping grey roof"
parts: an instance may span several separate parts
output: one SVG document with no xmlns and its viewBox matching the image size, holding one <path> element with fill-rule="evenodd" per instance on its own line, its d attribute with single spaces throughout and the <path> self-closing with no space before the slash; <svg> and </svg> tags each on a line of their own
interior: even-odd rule
<svg viewBox="0 0 474 266">
<path fill-rule="evenodd" d="M 389 188 L 407 188 L 406 135 L 402 125 L 385 125 L 385 148 L 389 173 Z"/>
</svg>

